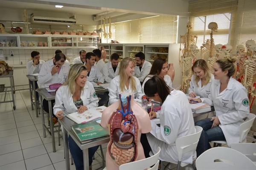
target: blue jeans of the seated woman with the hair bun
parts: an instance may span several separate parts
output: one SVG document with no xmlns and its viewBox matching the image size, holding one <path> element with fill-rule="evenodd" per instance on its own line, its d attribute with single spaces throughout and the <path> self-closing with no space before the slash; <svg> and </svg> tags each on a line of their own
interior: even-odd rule
<svg viewBox="0 0 256 170">
<path fill-rule="evenodd" d="M 212 127 L 213 121 L 210 119 L 199 120 L 195 122 L 195 126 L 200 126 L 203 128 L 201 133 L 198 146 L 196 148 L 197 157 L 200 156 L 204 151 L 211 148 L 209 142 L 211 141 L 225 141 L 225 136 L 221 130 L 221 127 Z"/>
</svg>

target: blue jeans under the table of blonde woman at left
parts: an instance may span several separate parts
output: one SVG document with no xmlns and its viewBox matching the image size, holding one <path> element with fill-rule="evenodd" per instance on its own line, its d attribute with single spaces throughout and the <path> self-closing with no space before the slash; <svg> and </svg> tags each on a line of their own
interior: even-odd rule
<svg viewBox="0 0 256 170">
<path fill-rule="evenodd" d="M 70 153 L 73 156 L 73 160 L 75 162 L 76 170 L 84 170 L 84 156 L 83 151 L 79 148 L 76 142 L 72 139 L 72 137 L 68 136 L 68 146 L 70 149 Z M 93 163 L 93 155 L 97 151 L 99 146 L 90 147 L 88 149 L 89 153 L 89 166 Z"/>
</svg>

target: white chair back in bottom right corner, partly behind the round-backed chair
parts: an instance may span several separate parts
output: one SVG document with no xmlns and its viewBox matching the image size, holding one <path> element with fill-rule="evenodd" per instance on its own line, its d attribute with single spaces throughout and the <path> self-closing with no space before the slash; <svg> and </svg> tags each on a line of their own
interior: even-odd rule
<svg viewBox="0 0 256 170">
<path fill-rule="evenodd" d="M 233 143 L 231 149 L 239 151 L 251 161 L 256 162 L 256 143 Z"/>
</svg>

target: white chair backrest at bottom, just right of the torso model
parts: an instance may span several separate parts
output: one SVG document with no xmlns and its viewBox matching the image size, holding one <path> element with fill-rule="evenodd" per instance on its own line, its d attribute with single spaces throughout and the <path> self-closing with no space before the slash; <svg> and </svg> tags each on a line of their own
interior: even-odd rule
<svg viewBox="0 0 256 170">
<path fill-rule="evenodd" d="M 153 156 L 150 156 L 149 158 L 142 159 L 139 161 L 130 162 L 127 164 L 122 164 L 119 166 L 119 170 L 145 170 L 148 167 L 151 167 L 153 164 L 154 167 L 151 167 L 148 170 L 157 170 L 159 165 L 159 155 L 160 155 L 161 148 L 157 148 L 157 153 Z"/>
</svg>

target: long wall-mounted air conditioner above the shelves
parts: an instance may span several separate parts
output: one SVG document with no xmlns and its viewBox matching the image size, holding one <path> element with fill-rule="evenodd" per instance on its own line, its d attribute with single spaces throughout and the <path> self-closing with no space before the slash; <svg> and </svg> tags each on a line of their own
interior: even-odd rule
<svg viewBox="0 0 256 170">
<path fill-rule="evenodd" d="M 66 18 L 51 18 L 51 17 L 36 17 L 30 18 L 30 23 L 33 24 L 46 24 L 46 25 L 76 25 L 75 19 Z"/>
</svg>

